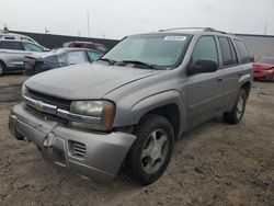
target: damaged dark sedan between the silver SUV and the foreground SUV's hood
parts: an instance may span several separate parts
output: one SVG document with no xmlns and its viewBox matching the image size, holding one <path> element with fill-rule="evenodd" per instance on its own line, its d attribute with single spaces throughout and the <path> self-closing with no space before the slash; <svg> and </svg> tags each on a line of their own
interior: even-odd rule
<svg viewBox="0 0 274 206">
<path fill-rule="evenodd" d="M 46 54 L 25 57 L 25 75 L 33 76 L 69 65 L 93 62 L 102 53 L 87 48 L 58 48 Z"/>
</svg>

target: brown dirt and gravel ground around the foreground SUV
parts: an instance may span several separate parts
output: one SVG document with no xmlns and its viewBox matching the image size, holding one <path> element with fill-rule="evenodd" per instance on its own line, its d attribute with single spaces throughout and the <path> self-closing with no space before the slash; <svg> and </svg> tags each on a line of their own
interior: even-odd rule
<svg viewBox="0 0 274 206">
<path fill-rule="evenodd" d="M 255 82 L 239 125 L 216 117 L 185 134 L 164 175 L 141 187 L 123 173 L 107 184 L 83 180 L 12 138 L 19 87 L 1 85 L 22 80 L 0 78 L 0 205 L 274 205 L 274 83 Z"/>
</svg>

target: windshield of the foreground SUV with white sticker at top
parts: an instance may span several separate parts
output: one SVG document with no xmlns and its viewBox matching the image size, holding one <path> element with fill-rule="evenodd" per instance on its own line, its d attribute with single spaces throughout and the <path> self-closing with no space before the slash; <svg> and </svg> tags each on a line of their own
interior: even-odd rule
<svg viewBox="0 0 274 206">
<path fill-rule="evenodd" d="M 102 59 L 172 67 L 180 60 L 189 39 L 190 35 L 183 34 L 129 36 L 106 53 Z"/>
</svg>

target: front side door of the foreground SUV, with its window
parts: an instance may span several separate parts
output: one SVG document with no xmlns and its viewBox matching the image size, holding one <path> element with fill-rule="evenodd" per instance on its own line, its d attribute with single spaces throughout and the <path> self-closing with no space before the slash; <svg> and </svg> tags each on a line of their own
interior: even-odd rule
<svg viewBox="0 0 274 206">
<path fill-rule="evenodd" d="M 202 36 L 197 41 L 190 64 L 210 59 L 219 65 L 216 38 L 213 35 Z M 224 99 L 221 71 L 196 73 L 187 78 L 187 121 L 195 126 L 219 111 Z"/>
</svg>

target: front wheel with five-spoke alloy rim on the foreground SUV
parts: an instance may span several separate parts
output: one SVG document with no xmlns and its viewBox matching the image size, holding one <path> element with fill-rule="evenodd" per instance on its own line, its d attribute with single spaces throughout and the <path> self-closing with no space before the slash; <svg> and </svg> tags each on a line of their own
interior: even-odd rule
<svg viewBox="0 0 274 206">
<path fill-rule="evenodd" d="M 158 180 L 165 171 L 174 144 L 174 133 L 167 118 L 149 114 L 135 129 L 137 139 L 126 159 L 128 175 L 141 185 Z"/>
</svg>

